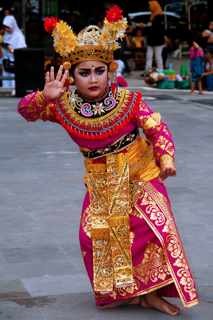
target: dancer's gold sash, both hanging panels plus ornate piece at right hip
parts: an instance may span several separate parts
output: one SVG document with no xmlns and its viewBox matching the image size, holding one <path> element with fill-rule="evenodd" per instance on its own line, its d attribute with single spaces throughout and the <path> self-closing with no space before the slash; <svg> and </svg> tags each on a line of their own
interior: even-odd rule
<svg viewBox="0 0 213 320">
<path fill-rule="evenodd" d="M 140 174 L 153 157 L 152 145 L 134 165 L 129 154 L 106 156 L 106 164 L 87 165 L 91 204 L 94 291 L 112 294 L 133 283 L 130 251 L 130 206 L 143 195 Z"/>
</svg>

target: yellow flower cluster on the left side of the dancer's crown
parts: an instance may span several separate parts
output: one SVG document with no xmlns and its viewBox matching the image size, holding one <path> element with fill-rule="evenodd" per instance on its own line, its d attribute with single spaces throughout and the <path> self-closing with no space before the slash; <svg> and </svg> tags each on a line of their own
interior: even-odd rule
<svg viewBox="0 0 213 320">
<path fill-rule="evenodd" d="M 77 37 L 73 33 L 71 27 L 62 20 L 56 23 L 56 26 L 52 31 L 52 36 L 54 37 L 53 46 L 55 51 L 59 52 L 60 55 L 68 56 L 68 53 L 73 51 L 78 45 Z"/>
</svg>

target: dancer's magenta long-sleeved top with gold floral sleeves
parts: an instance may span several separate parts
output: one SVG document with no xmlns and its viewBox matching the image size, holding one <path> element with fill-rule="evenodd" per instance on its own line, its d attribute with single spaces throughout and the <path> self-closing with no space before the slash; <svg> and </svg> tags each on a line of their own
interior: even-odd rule
<svg viewBox="0 0 213 320">
<path fill-rule="evenodd" d="M 38 104 L 36 101 L 36 95 L 38 92 L 33 92 L 22 98 L 18 105 L 18 112 L 27 121 L 36 121 L 41 119 L 43 121 L 56 122 L 56 116 L 52 110 L 53 104 L 49 104 L 48 101 L 44 101 L 43 104 Z M 47 112 L 47 105 L 49 104 L 49 110 Z M 153 114 L 152 109 L 150 109 L 147 104 L 143 101 L 134 115 L 134 118 L 124 127 L 123 130 L 119 130 L 117 134 L 112 137 L 104 138 L 103 140 L 86 140 L 78 138 L 77 135 L 69 133 L 70 138 L 80 147 L 88 149 L 98 149 L 105 148 L 112 144 L 119 137 L 131 132 L 135 127 L 142 128 L 146 139 L 152 142 L 154 150 L 154 158 L 160 167 L 160 157 L 164 154 L 173 156 L 175 152 L 173 141 L 171 140 L 171 134 L 168 130 L 167 125 L 160 121 L 159 114 Z"/>
</svg>

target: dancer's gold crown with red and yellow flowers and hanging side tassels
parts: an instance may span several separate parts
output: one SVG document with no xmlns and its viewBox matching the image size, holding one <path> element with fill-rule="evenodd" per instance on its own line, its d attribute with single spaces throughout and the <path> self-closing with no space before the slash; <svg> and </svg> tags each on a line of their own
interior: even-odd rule
<svg viewBox="0 0 213 320">
<path fill-rule="evenodd" d="M 120 48 L 118 39 L 122 40 L 126 35 L 125 30 L 128 27 L 127 20 L 122 15 L 122 10 L 116 5 L 109 11 L 106 11 L 104 28 L 97 26 L 88 26 L 84 28 L 78 36 L 72 31 L 71 27 L 62 20 L 56 18 L 45 18 L 44 28 L 52 33 L 54 37 L 53 46 L 56 52 L 63 57 L 64 69 L 69 70 L 72 65 L 86 61 L 99 60 L 110 64 L 112 70 L 111 89 L 113 94 L 117 92 L 117 68 L 118 64 L 114 62 L 113 51 Z M 112 68 L 111 68 L 112 67 Z M 69 75 L 65 82 L 66 91 L 69 89 Z"/>
</svg>

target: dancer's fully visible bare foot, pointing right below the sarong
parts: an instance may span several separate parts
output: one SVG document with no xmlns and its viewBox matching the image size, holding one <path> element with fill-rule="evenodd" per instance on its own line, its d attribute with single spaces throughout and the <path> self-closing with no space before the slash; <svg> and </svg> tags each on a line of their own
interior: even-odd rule
<svg viewBox="0 0 213 320">
<path fill-rule="evenodd" d="M 140 296 L 140 305 L 144 308 L 152 308 L 160 310 L 170 316 L 177 316 L 180 312 L 179 306 L 177 304 L 171 304 L 164 300 L 158 295 L 158 291 L 154 290 L 152 292 L 143 294 Z"/>
</svg>

